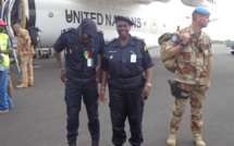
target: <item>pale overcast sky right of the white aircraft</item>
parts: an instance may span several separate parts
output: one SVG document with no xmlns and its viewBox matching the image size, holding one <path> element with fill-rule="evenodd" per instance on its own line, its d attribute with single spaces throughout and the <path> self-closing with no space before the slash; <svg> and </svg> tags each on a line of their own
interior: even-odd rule
<svg viewBox="0 0 234 146">
<path fill-rule="evenodd" d="M 234 0 L 218 1 L 218 21 L 210 22 L 205 29 L 212 40 L 234 40 Z"/>
</svg>

